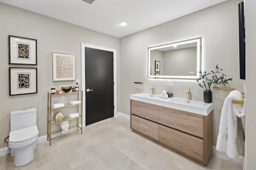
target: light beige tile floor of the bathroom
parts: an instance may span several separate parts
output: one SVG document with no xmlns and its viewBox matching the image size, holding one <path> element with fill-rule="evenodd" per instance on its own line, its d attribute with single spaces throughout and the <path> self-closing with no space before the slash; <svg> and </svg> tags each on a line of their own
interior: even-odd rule
<svg viewBox="0 0 256 170">
<path fill-rule="evenodd" d="M 39 143 L 34 160 L 14 167 L 10 154 L 0 157 L 0 170 L 242 170 L 242 165 L 212 154 L 200 166 L 130 129 L 130 121 L 115 117 L 90 125 L 83 134 Z"/>
</svg>

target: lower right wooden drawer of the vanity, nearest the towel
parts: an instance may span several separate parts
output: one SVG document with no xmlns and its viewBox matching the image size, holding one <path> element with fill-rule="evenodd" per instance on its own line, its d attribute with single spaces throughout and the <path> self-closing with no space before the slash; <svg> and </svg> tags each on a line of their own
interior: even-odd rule
<svg viewBox="0 0 256 170">
<path fill-rule="evenodd" d="M 159 125 L 159 141 L 186 154 L 203 160 L 203 140 Z"/>
</svg>

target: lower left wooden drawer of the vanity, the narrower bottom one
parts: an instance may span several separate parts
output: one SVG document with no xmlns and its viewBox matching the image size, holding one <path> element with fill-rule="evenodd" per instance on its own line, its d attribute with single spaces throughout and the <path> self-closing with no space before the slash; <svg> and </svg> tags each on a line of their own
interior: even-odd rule
<svg viewBox="0 0 256 170">
<path fill-rule="evenodd" d="M 131 129 L 158 140 L 158 124 L 131 115 Z"/>
</svg>

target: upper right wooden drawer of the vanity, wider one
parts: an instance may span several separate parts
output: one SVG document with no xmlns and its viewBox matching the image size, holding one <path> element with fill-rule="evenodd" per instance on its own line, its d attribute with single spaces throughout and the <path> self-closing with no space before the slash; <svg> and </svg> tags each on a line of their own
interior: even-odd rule
<svg viewBox="0 0 256 170">
<path fill-rule="evenodd" d="M 196 135 L 204 137 L 204 118 L 196 115 L 182 113 L 170 109 L 159 108 L 159 123 Z"/>
</svg>

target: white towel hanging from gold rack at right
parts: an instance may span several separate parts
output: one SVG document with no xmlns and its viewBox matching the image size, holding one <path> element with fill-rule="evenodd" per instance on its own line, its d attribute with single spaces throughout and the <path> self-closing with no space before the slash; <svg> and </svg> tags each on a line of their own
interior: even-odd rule
<svg viewBox="0 0 256 170">
<path fill-rule="evenodd" d="M 216 149 L 226 151 L 230 158 L 237 158 L 243 152 L 244 128 L 240 117 L 245 115 L 245 105 L 232 104 L 232 100 L 243 100 L 241 92 L 230 92 L 224 101 Z"/>
</svg>

